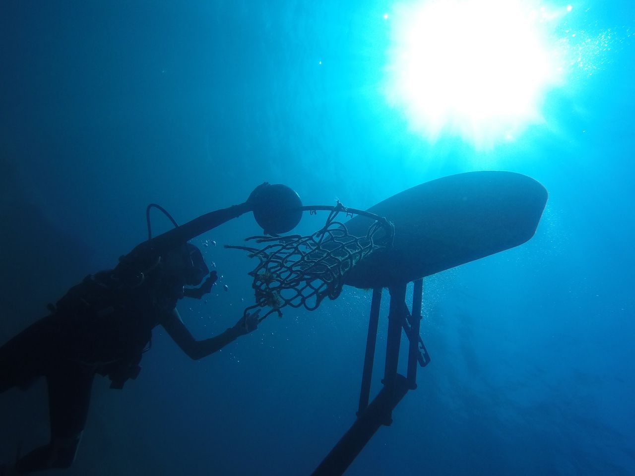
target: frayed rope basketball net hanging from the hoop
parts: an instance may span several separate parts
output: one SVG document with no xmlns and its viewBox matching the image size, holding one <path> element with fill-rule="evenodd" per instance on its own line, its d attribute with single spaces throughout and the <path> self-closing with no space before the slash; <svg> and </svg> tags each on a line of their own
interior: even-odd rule
<svg viewBox="0 0 635 476">
<path fill-rule="evenodd" d="M 322 207 L 321 207 L 322 208 Z M 246 315 L 255 308 L 271 308 L 260 321 L 286 306 L 315 310 L 328 296 L 333 300 L 342 292 L 346 274 L 359 261 L 380 249 L 392 246 L 394 227 L 385 218 L 365 211 L 337 206 L 330 209 L 324 227 L 312 235 L 288 235 L 282 237 L 253 236 L 245 241 L 264 244 L 263 248 L 226 246 L 248 251 L 250 258 L 258 258 L 258 265 L 249 273 L 253 277 L 256 303 L 244 310 Z M 315 213 L 315 209 L 310 209 Z M 346 225 L 337 221 L 346 216 L 364 215 L 373 219 L 366 235 L 356 237 Z"/>
</svg>

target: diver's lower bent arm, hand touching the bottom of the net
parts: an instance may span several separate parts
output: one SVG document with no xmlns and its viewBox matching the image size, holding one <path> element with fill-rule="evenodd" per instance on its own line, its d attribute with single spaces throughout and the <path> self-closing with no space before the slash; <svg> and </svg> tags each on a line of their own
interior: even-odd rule
<svg viewBox="0 0 635 476">
<path fill-rule="evenodd" d="M 171 312 L 170 316 L 168 316 L 161 325 L 168 331 L 168 334 L 170 334 L 172 340 L 177 343 L 178 347 L 180 347 L 190 359 L 194 360 L 202 359 L 207 355 L 217 352 L 225 347 L 225 345 L 236 340 L 239 336 L 255 329 L 253 325 L 251 328 L 247 327 L 246 324 L 244 324 L 244 318 L 241 318 L 236 326 L 229 327 L 229 329 L 222 334 L 218 334 L 218 336 L 205 340 L 196 340 L 183 324 L 181 316 L 176 309 Z"/>
</svg>

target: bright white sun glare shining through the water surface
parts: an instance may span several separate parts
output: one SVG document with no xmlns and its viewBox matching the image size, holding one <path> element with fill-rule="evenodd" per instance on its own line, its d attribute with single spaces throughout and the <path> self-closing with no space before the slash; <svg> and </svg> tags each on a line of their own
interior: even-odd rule
<svg viewBox="0 0 635 476">
<path fill-rule="evenodd" d="M 391 13 L 386 93 L 410 126 L 434 141 L 461 136 L 479 149 L 514 140 L 542 121 L 562 69 L 549 23 L 567 15 L 517 0 L 444 0 Z"/>
</svg>

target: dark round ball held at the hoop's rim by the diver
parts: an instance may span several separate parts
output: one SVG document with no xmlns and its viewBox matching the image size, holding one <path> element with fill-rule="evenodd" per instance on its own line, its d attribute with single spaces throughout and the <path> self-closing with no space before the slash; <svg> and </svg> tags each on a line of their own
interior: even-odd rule
<svg viewBox="0 0 635 476">
<path fill-rule="evenodd" d="M 281 234 L 297 227 L 302 218 L 300 196 L 286 185 L 269 185 L 260 192 L 253 216 L 265 233 Z"/>
</svg>

